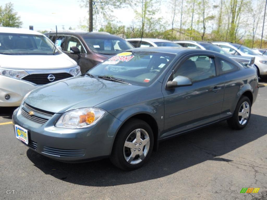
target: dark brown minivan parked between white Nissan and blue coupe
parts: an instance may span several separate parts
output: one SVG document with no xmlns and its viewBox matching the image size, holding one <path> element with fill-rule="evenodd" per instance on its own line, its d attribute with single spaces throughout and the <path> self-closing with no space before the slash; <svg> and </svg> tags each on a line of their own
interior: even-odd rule
<svg viewBox="0 0 267 200">
<path fill-rule="evenodd" d="M 134 48 L 125 39 L 105 32 L 49 31 L 45 35 L 81 67 L 81 73 L 121 51 Z M 71 51 L 75 46 L 78 51 Z"/>
</svg>

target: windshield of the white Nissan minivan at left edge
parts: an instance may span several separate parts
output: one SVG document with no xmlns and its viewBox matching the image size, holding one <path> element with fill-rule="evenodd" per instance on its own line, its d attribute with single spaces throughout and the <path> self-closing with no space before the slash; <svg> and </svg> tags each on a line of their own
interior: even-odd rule
<svg viewBox="0 0 267 200">
<path fill-rule="evenodd" d="M 0 33 L 0 54 L 53 55 L 54 44 L 44 35 Z M 61 54 L 57 51 L 55 54 Z"/>
</svg>

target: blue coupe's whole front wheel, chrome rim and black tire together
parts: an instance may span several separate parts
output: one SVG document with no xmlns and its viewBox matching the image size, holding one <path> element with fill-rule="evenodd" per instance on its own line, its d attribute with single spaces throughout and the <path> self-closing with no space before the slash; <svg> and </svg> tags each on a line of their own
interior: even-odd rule
<svg viewBox="0 0 267 200">
<path fill-rule="evenodd" d="M 138 169 L 150 157 L 153 144 L 151 127 L 140 119 L 130 119 L 115 138 L 111 162 L 123 170 Z"/>
</svg>

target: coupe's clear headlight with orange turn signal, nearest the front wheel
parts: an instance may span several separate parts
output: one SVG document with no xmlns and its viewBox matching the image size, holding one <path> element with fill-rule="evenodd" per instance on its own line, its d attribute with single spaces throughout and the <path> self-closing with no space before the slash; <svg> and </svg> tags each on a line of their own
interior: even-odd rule
<svg viewBox="0 0 267 200">
<path fill-rule="evenodd" d="M 80 108 L 70 110 L 62 114 L 56 123 L 56 127 L 80 129 L 94 125 L 105 114 L 99 108 Z"/>
</svg>

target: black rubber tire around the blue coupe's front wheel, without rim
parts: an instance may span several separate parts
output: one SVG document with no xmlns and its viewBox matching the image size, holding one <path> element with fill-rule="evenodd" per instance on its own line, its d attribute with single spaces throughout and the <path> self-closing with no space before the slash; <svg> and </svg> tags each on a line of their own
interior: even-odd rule
<svg viewBox="0 0 267 200">
<path fill-rule="evenodd" d="M 140 163 L 130 164 L 126 161 L 124 157 L 124 143 L 126 139 L 129 138 L 128 136 L 132 133 L 132 131 L 136 129 L 143 129 L 148 133 L 150 144 L 149 144 L 149 148 L 144 159 Z M 112 153 L 110 156 L 110 160 L 113 163 L 113 165 L 123 170 L 138 169 L 139 167 L 144 165 L 144 163 L 147 162 L 148 158 L 150 157 L 152 153 L 153 145 L 154 145 L 154 135 L 153 135 L 151 127 L 143 120 L 129 119 L 127 122 L 124 123 L 124 125 L 120 128 L 119 132 L 116 135 L 113 148 L 112 148 Z"/>
</svg>

